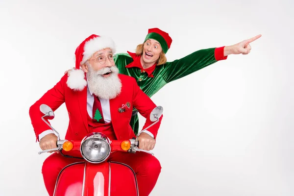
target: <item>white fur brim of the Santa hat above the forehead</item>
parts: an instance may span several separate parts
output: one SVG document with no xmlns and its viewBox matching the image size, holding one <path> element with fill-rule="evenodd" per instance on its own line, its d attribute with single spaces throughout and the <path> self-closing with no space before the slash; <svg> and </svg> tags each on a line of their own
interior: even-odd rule
<svg viewBox="0 0 294 196">
<path fill-rule="evenodd" d="M 86 42 L 81 65 L 86 62 L 95 52 L 106 48 L 110 48 L 112 53 L 116 52 L 114 41 L 109 37 L 100 36 Z"/>
</svg>

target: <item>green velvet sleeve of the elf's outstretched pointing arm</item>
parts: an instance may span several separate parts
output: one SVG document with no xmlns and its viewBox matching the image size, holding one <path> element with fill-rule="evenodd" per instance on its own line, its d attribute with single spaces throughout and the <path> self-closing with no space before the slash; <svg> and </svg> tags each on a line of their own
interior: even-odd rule
<svg viewBox="0 0 294 196">
<path fill-rule="evenodd" d="M 181 59 L 167 62 L 163 65 L 161 75 L 169 83 L 216 62 L 215 48 L 200 49 Z"/>
</svg>

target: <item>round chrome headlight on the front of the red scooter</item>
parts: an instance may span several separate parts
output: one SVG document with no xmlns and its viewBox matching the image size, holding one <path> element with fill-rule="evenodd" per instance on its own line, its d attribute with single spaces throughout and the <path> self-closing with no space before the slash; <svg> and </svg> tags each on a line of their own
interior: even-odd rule
<svg viewBox="0 0 294 196">
<path fill-rule="evenodd" d="M 90 133 L 81 142 L 81 154 L 90 163 L 105 161 L 110 151 L 110 140 L 102 133 Z"/>
</svg>

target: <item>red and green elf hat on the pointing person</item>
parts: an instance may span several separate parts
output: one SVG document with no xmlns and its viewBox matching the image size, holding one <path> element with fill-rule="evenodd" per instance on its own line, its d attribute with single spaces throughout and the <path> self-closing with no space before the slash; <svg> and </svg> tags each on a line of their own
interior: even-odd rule
<svg viewBox="0 0 294 196">
<path fill-rule="evenodd" d="M 147 39 L 158 41 L 164 53 L 167 53 L 172 44 L 172 38 L 169 36 L 169 33 L 166 33 L 159 28 L 149 28 L 144 42 L 146 42 Z"/>
</svg>

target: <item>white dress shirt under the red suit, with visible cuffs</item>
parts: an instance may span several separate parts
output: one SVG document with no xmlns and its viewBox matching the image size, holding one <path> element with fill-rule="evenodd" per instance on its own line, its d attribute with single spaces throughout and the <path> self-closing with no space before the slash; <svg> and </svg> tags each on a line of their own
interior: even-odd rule
<svg viewBox="0 0 294 196">
<path fill-rule="evenodd" d="M 110 115 L 110 104 L 109 104 L 109 99 L 104 99 L 104 98 L 99 98 L 100 103 L 101 103 L 101 108 L 102 108 L 102 113 L 103 113 L 103 119 L 105 123 L 111 122 L 111 115 Z M 93 119 L 93 104 L 94 104 L 94 95 L 93 92 L 89 89 L 87 85 L 87 112 L 91 119 Z M 154 138 L 154 135 L 150 132 L 145 130 L 148 135 Z M 46 131 L 43 131 L 42 133 L 39 134 L 39 141 L 46 135 L 54 133 L 53 130 L 49 129 Z M 54 133 L 55 134 L 55 133 Z"/>
</svg>

